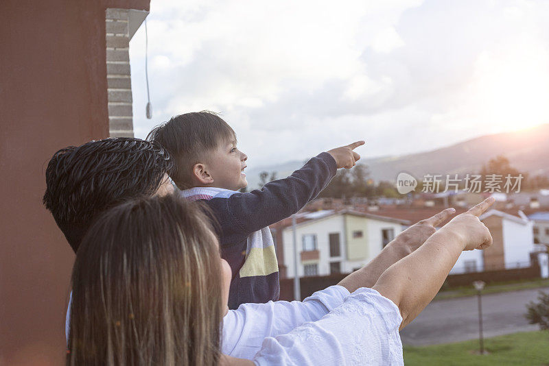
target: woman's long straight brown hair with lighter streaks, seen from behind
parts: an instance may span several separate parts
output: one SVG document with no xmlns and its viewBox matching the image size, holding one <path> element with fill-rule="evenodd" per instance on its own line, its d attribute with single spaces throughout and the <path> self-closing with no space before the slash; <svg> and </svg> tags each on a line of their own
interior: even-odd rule
<svg viewBox="0 0 549 366">
<path fill-rule="evenodd" d="M 67 365 L 217 365 L 222 278 L 207 218 L 174 195 L 117 206 L 78 249 Z"/>
</svg>

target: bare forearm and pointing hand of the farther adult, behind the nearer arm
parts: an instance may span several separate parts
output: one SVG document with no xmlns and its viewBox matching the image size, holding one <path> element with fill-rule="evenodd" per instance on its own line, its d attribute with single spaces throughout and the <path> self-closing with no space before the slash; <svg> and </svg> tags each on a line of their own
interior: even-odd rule
<svg viewBox="0 0 549 366">
<path fill-rule="evenodd" d="M 388 243 L 382 252 L 377 254 L 367 265 L 351 273 L 338 284 L 344 286 L 351 293 L 360 287 L 372 287 L 388 267 L 408 256 L 425 243 L 436 232 L 436 226 L 449 219 L 454 212 L 456 212 L 454 208 L 447 208 L 410 226 Z"/>
</svg>

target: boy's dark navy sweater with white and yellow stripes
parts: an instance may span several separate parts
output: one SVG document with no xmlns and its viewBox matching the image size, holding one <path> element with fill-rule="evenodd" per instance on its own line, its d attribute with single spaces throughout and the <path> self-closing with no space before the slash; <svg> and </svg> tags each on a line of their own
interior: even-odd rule
<svg viewBox="0 0 549 366">
<path fill-rule="evenodd" d="M 336 160 L 320 153 L 290 177 L 274 180 L 246 193 L 223 188 L 195 187 L 182 191 L 191 201 L 203 200 L 211 209 L 221 255 L 233 271 L 229 308 L 248 302 L 276 301 L 279 268 L 268 228 L 290 217 L 322 191 L 336 175 Z"/>
</svg>

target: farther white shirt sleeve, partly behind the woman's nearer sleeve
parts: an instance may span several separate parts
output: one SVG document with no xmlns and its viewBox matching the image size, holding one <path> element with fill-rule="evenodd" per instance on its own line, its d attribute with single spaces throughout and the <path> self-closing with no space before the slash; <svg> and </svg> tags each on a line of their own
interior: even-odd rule
<svg viewBox="0 0 549 366">
<path fill-rule="evenodd" d="M 334 285 L 316 291 L 303 302 L 242 304 L 236 310 L 229 310 L 223 318 L 221 352 L 251 360 L 266 337 L 277 337 L 307 321 L 322 318 L 343 304 L 347 296 L 347 289 Z"/>
</svg>

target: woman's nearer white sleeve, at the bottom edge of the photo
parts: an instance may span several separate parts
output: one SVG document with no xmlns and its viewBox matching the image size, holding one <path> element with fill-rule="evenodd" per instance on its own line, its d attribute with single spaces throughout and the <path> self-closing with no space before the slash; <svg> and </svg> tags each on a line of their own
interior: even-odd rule
<svg viewBox="0 0 549 366">
<path fill-rule="evenodd" d="M 399 309 L 361 288 L 318 321 L 267 337 L 253 361 L 264 365 L 404 365 Z"/>
</svg>

